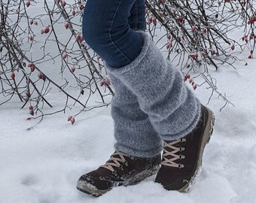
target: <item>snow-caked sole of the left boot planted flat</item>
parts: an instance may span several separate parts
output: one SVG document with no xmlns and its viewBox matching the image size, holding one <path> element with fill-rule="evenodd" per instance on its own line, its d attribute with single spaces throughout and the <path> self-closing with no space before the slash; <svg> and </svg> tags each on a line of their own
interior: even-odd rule
<svg viewBox="0 0 256 203">
<path fill-rule="evenodd" d="M 136 174 L 135 176 L 133 176 L 127 180 L 118 181 L 118 182 L 115 181 L 115 182 L 113 182 L 114 186 L 109 189 L 98 189 L 98 188 L 96 188 L 96 186 L 93 186 L 90 183 L 86 183 L 84 181 L 78 180 L 77 189 L 81 192 L 87 193 L 88 195 L 93 195 L 95 197 L 98 197 L 100 195 L 105 194 L 106 192 L 108 192 L 109 190 L 114 188 L 115 186 L 135 185 L 136 183 L 139 183 L 140 181 L 144 180 L 145 178 L 156 174 L 157 171 L 159 170 L 159 168 L 160 168 L 160 165 L 155 165 L 154 167 L 148 168 L 145 171 L 142 171 L 139 174 Z"/>
</svg>

